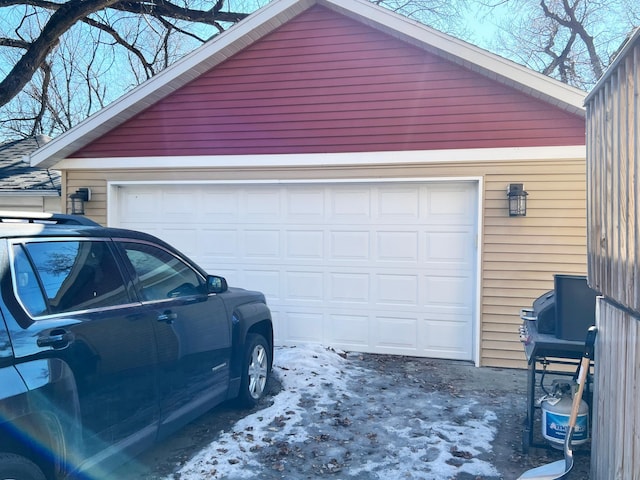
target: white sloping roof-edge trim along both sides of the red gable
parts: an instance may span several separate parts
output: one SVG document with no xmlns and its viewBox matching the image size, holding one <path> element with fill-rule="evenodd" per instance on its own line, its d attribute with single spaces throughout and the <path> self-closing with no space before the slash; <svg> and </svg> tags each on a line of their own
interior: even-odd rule
<svg viewBox="0 0 640 480">
<path fill-rule="evenodd" d="M 31 156 L 32 165 L 55 165 L 314 5 L 331 9 L 527 95 L 584 116 L 585 92 L 370 1 L 274 0 L 39 149 Z"/>
</svg>

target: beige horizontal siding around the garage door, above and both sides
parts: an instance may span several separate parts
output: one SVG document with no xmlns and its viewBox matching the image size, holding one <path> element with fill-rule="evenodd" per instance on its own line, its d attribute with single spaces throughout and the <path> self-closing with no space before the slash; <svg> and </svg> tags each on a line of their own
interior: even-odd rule
<svg viewBox="0 0 640 480">
<path fill-rule="evenodd" d="M 176 164 L 179 160 L 176 160 Z M 518 161 L 388 166 L 74 170 L 68 189 L 90 187 L 87 215 L 107 222 L 109 181 L 224 181 L 349 178 L 483 178 L 480 363 L 525 366 L 520 309 L 553 288 L 555 273 L 586 273 L 585 161 Z M 526 217 L 509 217 L 507 185 L 524 183 Z"/>
</svg>

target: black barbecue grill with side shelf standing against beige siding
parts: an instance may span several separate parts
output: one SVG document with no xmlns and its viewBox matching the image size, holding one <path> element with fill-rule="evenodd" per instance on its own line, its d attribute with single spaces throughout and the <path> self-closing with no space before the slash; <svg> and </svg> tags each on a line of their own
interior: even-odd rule
<svg viewBox="0 0 640 480">
<path fill-rule="evenodd" d="M 522 449 L 546 447 L 534 443 L 536 418 L 536 374 L 573 375 L 567 365 L 579 365 L 587 330 L 595 324 L 597 292 L 578 275 L 554 275 L 554 289 L 520 312 L 520 340 L 527 357 L 527 417 Z M 564 368 L 553 370 L 553 365 Z M 542 380 L 541 380 L 542 383 Z"/>
</svg>

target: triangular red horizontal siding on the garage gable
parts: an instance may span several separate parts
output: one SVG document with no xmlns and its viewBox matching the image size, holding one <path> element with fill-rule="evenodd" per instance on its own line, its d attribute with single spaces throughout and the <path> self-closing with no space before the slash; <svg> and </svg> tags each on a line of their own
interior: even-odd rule
<svg viewBox="0 0 640 480">
<path fill-rule="evenodd" d="M 75 157 L 582 145 L 584 119 L 314 7 Z"/>
</svg>

